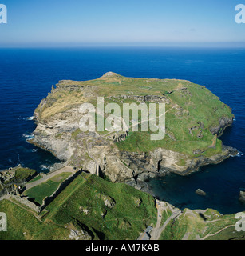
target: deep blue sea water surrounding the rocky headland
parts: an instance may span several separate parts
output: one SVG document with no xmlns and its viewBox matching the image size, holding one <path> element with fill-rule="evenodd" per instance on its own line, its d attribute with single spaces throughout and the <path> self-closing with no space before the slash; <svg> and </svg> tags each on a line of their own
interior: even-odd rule
<svg viewBox="0 0 245 256">
<path fill-rule="evenodd" d="M 234 125 L 223 143 L 245 153 L 245 49 L 239 48 L 66 48 L 0 49 L 0 170 L 16 166 L 44 171 L 52 154 L 26 142 L 35 128 L 34 109 L 61 79 L 87 80 L 108 71 L 138 78 L 180 78 L 207 86 L 231 106 Z M 46 167 L 45 167 L 46 166 Z M 180 177 L 169 175 L 149 182 L 158 198 L 180 208 L 245 210 L 238 201 L 245 188 L 244 156 Z M 203 198 L 196 189 L 207 193 Z"/>
</svg>

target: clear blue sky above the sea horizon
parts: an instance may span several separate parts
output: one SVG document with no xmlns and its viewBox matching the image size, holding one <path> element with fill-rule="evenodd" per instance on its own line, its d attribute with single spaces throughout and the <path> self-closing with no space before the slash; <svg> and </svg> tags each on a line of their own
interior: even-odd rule
<svg viewBox="0 0 245 256">
<path fill-rule="evenodd" d="M 1 0 L 0 46 L 245 45 L 245 0 Z"/>
</svg>

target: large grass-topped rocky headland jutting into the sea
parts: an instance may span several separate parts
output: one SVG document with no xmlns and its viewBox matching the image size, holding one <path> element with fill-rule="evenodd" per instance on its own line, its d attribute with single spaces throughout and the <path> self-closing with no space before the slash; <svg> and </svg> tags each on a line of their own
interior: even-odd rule
<svg viewBox="0 0 245 256">
<path fill-rule="evenodd" d="M 147 132 L 130 130 L 82 132 L 79 107 L 94 104 L 97 97 L 104 97 L 105 104 L 165 103 L 165 138 L 152 142 Z M 189 174 L 236 154 L 217 138 L 232 124 L 231 109 L 204 86 L 188 81 L 124 78 L 112 72 L 92 81 L 61 81 L 41 101 L 34 118 L 37 128 L 30 142 L 91 173 L 99 166 L 113 182 L 166 172 Z"/>
</svg>

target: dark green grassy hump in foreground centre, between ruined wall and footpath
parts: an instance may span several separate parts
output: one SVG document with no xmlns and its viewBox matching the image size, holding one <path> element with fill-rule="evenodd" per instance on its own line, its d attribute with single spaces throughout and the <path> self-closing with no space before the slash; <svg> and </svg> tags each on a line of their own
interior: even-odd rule
<svg viewBox="0 0 245 256">
<path fill-rule="evenodd" d="M 115 200 L 113 209 L 105 206 L 101 194 Z M 68 199 L 64 202 L 64 198 Z M 136 207 L 134 198 L 142 200 L 140 207 Z M 81 207 L 89 210 L 89 214 L 83 213 Z M 156 223 L 152 196 L 95 175 L 78 176 L 47 209 L 50 211 L 47 218 L 53 222 L 64 225 L 76 219 L 103 239 L 136 239 L 146 226 Z M 102 218 L 101 213 L 105 211 L 105 218 Z"/>
</svg>

